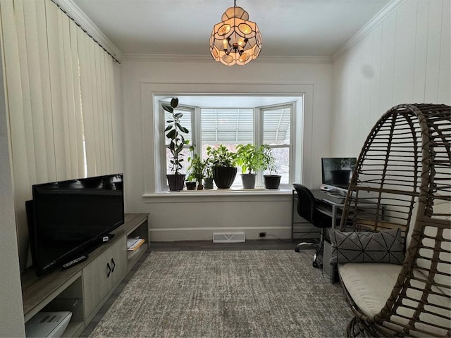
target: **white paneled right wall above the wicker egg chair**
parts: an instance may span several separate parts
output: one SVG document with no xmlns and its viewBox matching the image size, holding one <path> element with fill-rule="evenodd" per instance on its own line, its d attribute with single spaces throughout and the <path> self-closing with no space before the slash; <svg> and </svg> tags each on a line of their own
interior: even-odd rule
<svg viewBox="0 0 451 338">
<path fill-rule="evenodd" d="M 450 104 L 450 2 L 400 1 L 334 58 L 333 155 L 358 156 L 378 118 L 397 104 Z"/>
</svg>

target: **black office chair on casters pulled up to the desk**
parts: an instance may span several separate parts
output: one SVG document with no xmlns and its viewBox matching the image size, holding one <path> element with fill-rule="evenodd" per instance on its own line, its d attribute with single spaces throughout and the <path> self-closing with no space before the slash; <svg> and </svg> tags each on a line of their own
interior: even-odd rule
<svg viewBox="0 0 451 338">
<path fill-rule="evenodd" d="M 299 216 L 309 221 L 315 227 L 321 228 L 321 234 L 319 237 L 319 243 L 316 242 L 302 242 L 297 244 L 295 251 L 299 252 L 301 246 L 314 246 L 318 249 L 313 256 L 313 266 L 314 268 L 322 268 L 323 262 L 323 246 L 324 246 L 324 236 L 326 229 L 330 227 L 330 217 L 324 215 L 320 211 L 316 209 L 316 202 L 313 194 L 309 188 L 305 187 L 302 184 L 294 183 L 293 187 L 295 187 L 297 193 L 297 213 Z"/>
</svg>

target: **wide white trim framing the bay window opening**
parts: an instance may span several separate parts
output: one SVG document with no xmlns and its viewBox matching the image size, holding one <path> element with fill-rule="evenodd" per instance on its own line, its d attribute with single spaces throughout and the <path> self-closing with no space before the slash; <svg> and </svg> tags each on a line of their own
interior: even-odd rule
<svg viewBox="0 0 451 338">
<path fill-rule="evenodd" d="M 192 201 L 193 196 L 199 196 L 196 201 L 211 201 L 218 199 L 239 201 L 241 199 L 248 201 L 249 196 L 252 200 L 271 199 L 273 195 L 291 194 L 292 189 L 286 192 L 280 191 L 255 191 L 255 192 L 214 192 L 209 191 L 196 192 L 197 194 L 170 193 L 161 186 L 161 133 L 163 130 L 159 124 L 159 106 L 158 101 L 164 97 L 177 96 L 296 96 L 299 98 L 299 106 L 295 110 L 296 143 L 293 144 L 294 173 L 295 182 L 303 182 L 307 186 L 321 182 L 321 174 L 316 170 L 317 163 L 321 161 L 321 155 L 314 143 L 314 126 L 318 123 L 318 118 L 314 117 L 314 111 L 318 108 L 325 108 L 321 102 L 314 100 L 314 84 L 300 83 L 257 83 L 257 82 L 151 82 L 142 81 L 140 84 L 141 97 L 141 121 L 142 121 L 142 158 L 140 162 L 134 163 L 138 167 L 132 167 L 132 173 L 142 173 L 142 199 L 144 203 L 159 203 L 161 199 L 171 199 L 171 201 Z M 314 102 L 319 107 L 314 108 Z M 321 120 L 320 114 L 319 119 Z M 314 121 L 316 120 L 316 122 Z M 302 134 L 302 136 L 300 136 Z M 137 189 L 139 189 L 137 187 Z M 242 196 L 242 197 L 240 197 Z"/>
</svg>

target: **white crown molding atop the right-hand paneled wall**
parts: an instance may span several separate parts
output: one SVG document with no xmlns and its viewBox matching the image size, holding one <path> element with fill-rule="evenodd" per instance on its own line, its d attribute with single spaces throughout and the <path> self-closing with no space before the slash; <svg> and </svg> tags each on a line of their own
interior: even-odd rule
<svg viewBox="0 0 451 338">
<path fill-rule="evenodd" d="M 376 15 L 369 20 L 364 27 L 362 27 L 357 33 L 355 33 L 345 44 L 343 44 L 334 54 L 331 56 L 332 62 L 337 61 L 340 56 L 352 49 L 359 41 L 364 39 L 375 27 L 383 22 L 389 15 L 397 10 L 406 0 L 392 0 Z"/>
</svg>

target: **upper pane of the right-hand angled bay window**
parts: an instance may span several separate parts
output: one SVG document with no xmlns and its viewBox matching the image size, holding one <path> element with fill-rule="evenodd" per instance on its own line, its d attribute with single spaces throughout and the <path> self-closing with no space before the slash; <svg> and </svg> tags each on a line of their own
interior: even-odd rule
<svg viewBox="0 0 451 338">
<path fill-rule="evenodd" d="M 291 107 L 263 111 L 263 143 L 290 144 Z"/>
</svg>

